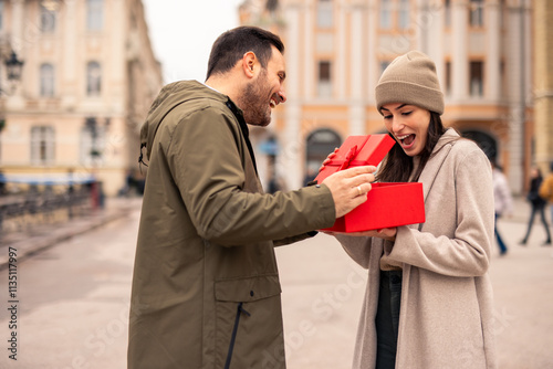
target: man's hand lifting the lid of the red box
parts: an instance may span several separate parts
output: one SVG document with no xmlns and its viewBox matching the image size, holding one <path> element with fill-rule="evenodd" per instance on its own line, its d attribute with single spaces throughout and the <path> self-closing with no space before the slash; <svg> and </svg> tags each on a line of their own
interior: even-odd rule
<svg viewBox="0 0 553 369">
<path fill-rule="evenodd" d="M 375 170 L 374 166 L 353 167 L 325 178 L 323 183 L 331 190 L 336 218 L 347 214 L 367 200 Z"/>
</svg>

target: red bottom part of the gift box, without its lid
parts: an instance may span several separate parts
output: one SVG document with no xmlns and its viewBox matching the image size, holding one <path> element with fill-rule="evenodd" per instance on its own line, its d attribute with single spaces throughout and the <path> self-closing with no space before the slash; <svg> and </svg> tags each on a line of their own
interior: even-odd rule
<svg viewBox="0 0 553 369">
<path fill-rule="evenodd" d="M 367 201 L 325 231 L 351 233 L 424 222 L 422 183 L 373 183 Z"/>
</svg>

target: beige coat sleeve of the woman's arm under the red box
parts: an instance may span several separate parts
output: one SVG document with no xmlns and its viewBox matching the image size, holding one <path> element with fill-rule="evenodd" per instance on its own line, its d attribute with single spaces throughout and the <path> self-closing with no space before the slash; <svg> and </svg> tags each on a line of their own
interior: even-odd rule
<svg viewBox="0 0 553 369">
<path fill-rule="evenodd" d="M 399 226 L 389 257 L 449 276 L 480 276 L 488 271 L 494 222 L 489 161 L 472 151 L 460 159 L 453 177 L 457 224 L 451 234 Z"/>
</svg>

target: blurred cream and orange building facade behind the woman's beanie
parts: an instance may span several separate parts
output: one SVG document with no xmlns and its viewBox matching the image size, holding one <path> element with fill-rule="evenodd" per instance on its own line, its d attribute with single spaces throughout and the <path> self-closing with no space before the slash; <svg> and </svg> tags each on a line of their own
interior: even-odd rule
<svg viewBox="0 0 553 369">
<path fill-rule="evenodd" d="M 374 88 L 396 56 L 420 50 L 437 65 L 445 125 L 478 141 L 520 193 L 535 160 L 532 17 L 530 0 L 244 1 L 241 22 L 286 46 L 288 102 L 258 134 L 278 141 L 276 176 L 296 188 L 345 137 L 384 133 Z"/>
</svg>

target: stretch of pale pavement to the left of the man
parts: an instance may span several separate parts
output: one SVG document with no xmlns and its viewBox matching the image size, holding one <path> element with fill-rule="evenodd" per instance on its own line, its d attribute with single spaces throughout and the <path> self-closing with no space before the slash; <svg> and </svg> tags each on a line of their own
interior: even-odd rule
<svg viewBox="0 0 553 369">
<path fill-rule="evenodd" d="M 18 361 L 8 358 L 7 270 L 0 272 L 0 368 L 126 368 L 138 208 L 18 265 Z M 2 252 L 4 252 L 2 250 Z M 8 306 L 9 307 L 9 306 Z"/>
</svg>

